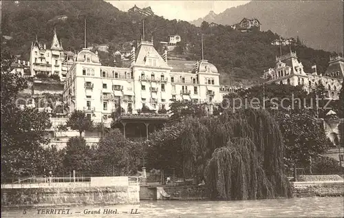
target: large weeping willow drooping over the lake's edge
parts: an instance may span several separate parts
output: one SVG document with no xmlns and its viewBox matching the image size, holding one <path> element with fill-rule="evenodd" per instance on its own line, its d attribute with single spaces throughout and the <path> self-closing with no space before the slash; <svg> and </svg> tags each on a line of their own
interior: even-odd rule
<svg viewBox="0 0 344 218">
<path fill-rule="evenodd" d="M 173 135 L 171 138 L 170 135 Z M 164 140 L 166 138 L 166 140 Z M 277 122 L 264 110 L 185 118 L 151 135 L 152 146 L 174 146 L 184 177 L 204 178 L 212 199 L 290 197 Z M 164 145 L 163 145 L 164 144 Z"/>
</svg>

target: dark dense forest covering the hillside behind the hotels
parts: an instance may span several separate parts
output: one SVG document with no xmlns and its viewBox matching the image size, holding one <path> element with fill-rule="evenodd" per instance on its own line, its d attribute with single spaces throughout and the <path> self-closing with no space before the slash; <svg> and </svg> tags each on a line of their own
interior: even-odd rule
<svg viewBox="0 0 344 218">
<path fill-rule="evenodd" d="M 105 1 L 3 1 L 1 14 L 1 49 L 12 54 L 21 54 L 28 60 L 31 42 L 36 35 L 39 41 L 50 47 L 54 28 L 65 50 L 78 51 L 84 46 L 84 21 L 87 20 L 87 45 L 107 43 L 109 54 L 102 54 L 103 63 L 109 64 L 112 52 L 123 50 L 125 44 L 140 40 L 144 20 L 145 38 L 155 47 L 166 41 L 169 34 L 179 34 L 182 43 L 175 51 L 190 60 L 202 58 L 201 35 L 204 34 L 204 58 L 215 64 L 222 74 L 222 82 L 233 78 L 259 78 L 264 69 L 272 67 L 279 47 L 271 41 L 279 35 L 267 32 L 238 32 L 229 26 L 201 28 L 186 21 L 166 20 L 163 17 L 142 17 L 139 14 L 122 12 Z M 282 47 L 283 54 L 290 47 Z M 330 52 L 312 50 L 301 45 L 293 46 L 306 72 L 313 64 L 318 72 L 324 72 Z M 111 61 L 110 61 L 111 62 Z"/>
</svg>

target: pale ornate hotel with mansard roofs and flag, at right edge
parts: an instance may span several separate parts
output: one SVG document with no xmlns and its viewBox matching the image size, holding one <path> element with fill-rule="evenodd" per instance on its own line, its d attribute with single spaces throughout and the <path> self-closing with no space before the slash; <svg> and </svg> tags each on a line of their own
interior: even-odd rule
<svg viewBox="0 0 344 218">
<path fill-rule="evenodd" d="M 264 79 L 267 80 L 266 83 L 303 85 L 308 92 L 322 84 L 327 91 L 327 98 L 338 99 L 343 75 L 341 56 L 330 57 L 326 72 L 319 74 L 316 72 L 316 65 L 312 66 L 312 72 L 305 72 L 302 63 L 297 59 L 297 53 L 290 51 L 289 54 L 276 56 L 275 67 L 264 72 Z"/>
</svg>

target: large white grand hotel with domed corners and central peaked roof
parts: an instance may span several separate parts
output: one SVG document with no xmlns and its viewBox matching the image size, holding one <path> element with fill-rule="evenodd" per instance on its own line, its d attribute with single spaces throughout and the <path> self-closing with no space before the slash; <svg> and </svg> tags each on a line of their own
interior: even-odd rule
<svg viewBox="0 0 344 218">
<path fill-rule="evenodd" d="M 138 115 L 143 106 L 156 112 L 168 110 L 172 100 L 206 103 L 212 111 L 222 100 L 219 89 L 219 73 L 213 64 L 168 62 L 166 50 L 160 56 L 153 42 L 141 41 L 137 49 L 132 47 L 129 67 L 103 66 L 97 54 L 84 48 L 67 72 L 63 99 L 69 113 L 83 110 L 94 122 L 109 124 L 109 116 L 119 105 L 122 118 Z"/>
</svg>

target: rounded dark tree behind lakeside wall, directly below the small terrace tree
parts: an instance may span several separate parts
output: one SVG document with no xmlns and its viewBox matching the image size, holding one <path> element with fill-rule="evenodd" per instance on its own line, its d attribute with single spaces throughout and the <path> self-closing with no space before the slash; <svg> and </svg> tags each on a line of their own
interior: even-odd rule
<svg viewBox="0 0 344 218">
<path fill-rule="evenodd" d="M 65 147 L 63 167 L 69 171 L 92 172 L 92 150 L 82 137 L 69 138 Z"/>
</svg>

